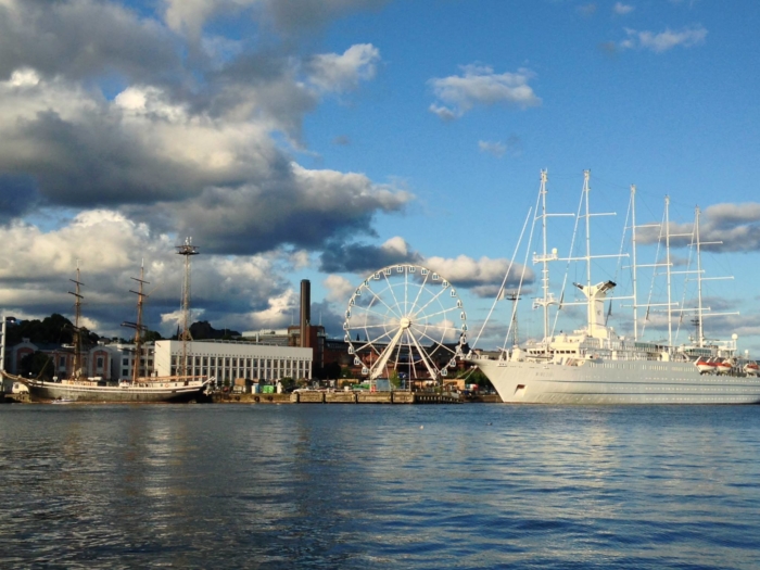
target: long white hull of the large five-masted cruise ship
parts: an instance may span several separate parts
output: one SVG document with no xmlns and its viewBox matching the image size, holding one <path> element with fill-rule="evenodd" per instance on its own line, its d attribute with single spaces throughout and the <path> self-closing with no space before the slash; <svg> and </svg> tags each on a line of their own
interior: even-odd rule
<svg viewBox="0 0 760 570">
<path fill-rule="evenodd" d="M 469 362 L 510 404 L 760 404 L 760 378 L 700 375 L 691 363 Z"/>
</svg>

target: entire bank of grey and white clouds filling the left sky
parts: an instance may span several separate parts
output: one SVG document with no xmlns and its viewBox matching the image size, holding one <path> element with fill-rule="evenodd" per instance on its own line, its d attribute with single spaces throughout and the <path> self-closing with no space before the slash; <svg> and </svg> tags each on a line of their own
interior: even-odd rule
<svg viewBox="0 0 760 570">
<path fill-rule="evenodd" d="M 181 291 L 174 244 L 192 236 L 204 319 L 288 324 L 297 295 L 287 271 L 307 267 L 312 252 L 375 237 L 376 216 L 402 213 L 414 197 L 294 159 L 306 151 L 306 114 L 375 77 L 376 47 L 303 54 L 292 37 L 251 38 L 383 3 L 165 0 L 138 11 L 0 0 L 0 308 L 71 311 L 78 259 L 87 318 L 126 335 L 113 325 L 132 318 L 127 291 L 144 258 L 149 326 L 170 327 Z M 241 37 L 211 25 L 235 16 L 248 26 Z"/>
</svg>

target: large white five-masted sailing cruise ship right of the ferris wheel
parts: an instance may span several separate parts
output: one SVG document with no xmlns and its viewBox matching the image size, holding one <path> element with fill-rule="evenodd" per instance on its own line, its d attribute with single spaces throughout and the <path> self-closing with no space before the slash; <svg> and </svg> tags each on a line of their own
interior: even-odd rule
<svg viewBox="0 0 760 570">
<path fill-rule="evenodd" d="M 556 305 L 561 309 L 563 295 L 559 302 L 549 292 L 548 263 L 559 261 L 557 250 L 547 249 L 546 220 L 546 170 L 541 173 L 541 219 L 543 230 L 543 253 L 534 254 L 533 262 L 542 264 L 543 296 L 534 302 L 534 308 L 543 308 L 544 337 L 541 341 L 519 344 L 510 349 L 503 347 L 496 357 L 489 357 L 482 352 L 471 351 L 466 360 L 477 365 L 491 380 L 501 398 L 507 403 L 532 404 L 758 404 L 760 403 L 760 376 L 758 363 L 750 360 L 737 350 L 737 335 L 727 341 L 707 340 L 702 329 L 702 319 L 708 311 L 702 306 L 700 261 L 701 242 L 699 239 L 699 208 L 696 208 L 692 244 L 696 250 L 697 269 L 697 307 L 694 322 L 696 335 L 689 342 L 673 345 L 672 317 L 683 315 L 683 307 L 676 308 L 670 292 L 670 221 L 668 214 L 669 199 L 666 198 L 666 215 L 661 233 L 666 238 L 666 259 L 663 266 L 668 277 L 668 302 L 664 313 L 668 317 L 668 340 L 647 342 L 638 338 L 636 301 L 636 225 L 635 225 L 635 186 L 631 187 L 631 230 L 632 230 L 632 283 L 633 293 L 633 339 L 619 335 L 607 325 L 604 304 L 611 300 L 610 293 L 617 287 L 612 280 L 592 282 L 592 259 L 612 257 L 613 255 L 592 255 L 590 238 L 588 180 L 590 172 L 584 173 L 582 204 L 585 214 L 585 255 L 569 256 L 567 262 L 585 262 L 585 283 L 573 283 L 586 305 L 586 324 L 571 333 L 555 333 L 549 327 L 549 307 Z M 530 216 L 530 213 L 529 213 Z M 535 227 L 535 223 L 534 223 Z M 505 277 L 506 282 L 506 277 Z M 503 284 L 504 288 L 504 284 Z M 519 293 L 519 291 L 518 291 Z M 610 296 L 608 296 L 610 295 Z M 514 294 L 515 301 L 519 295 Z M 611 305 L 610 305 L 611 306 Z M 647 313 L 649 311 L 648 305 Z M 517 304 L 512 304 L 512 324 L 516 321 Z M 556 322 L 556 320 L 555 320 Z M 556 325 L 555 325 L 556 327 Z M 509 333 L 507 333 L 509 338 Z M 476 341 L 477 342 L 477 341 Z M 505 343 L 506 345 L 506 343 Z"/>
</svg>

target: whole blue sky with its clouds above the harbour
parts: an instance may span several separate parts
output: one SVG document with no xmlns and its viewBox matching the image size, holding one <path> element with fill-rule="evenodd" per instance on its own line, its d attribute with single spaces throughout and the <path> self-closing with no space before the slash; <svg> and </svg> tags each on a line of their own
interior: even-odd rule
<svg viewBox="0 0 760 570">
<path fill-rule="evenodd" d="M 145 322 L 172 334 L 190 237 L 193 319 L 217 329 L 296 324 L 309 279 L 340 338 L 356 286 L 405 263 L 451 281 L 491 349 L 509 267 L 520 335 L 543 332 L 541 170 L 547 211 L 575 213 L 588 169 L 591 210 L 616 213 L 591 218 L 595 253 L 622 253 L 636 185 L 648 333 L 667 333 L 664 257 L 644 226 L 668 195 L 673 235 L 700 208 L 704 276 L 733 276 L 704 281 L 708 335 L 760 355 L 758 28 L 750 0 L 0 0 L 0 309 L 72 317 L 78 265 L 84 324 L 128 337 L 143 265 Z M 585 243 L 547 221 L 559 257 Z M 672 241 L 685 309 L 694 250 Z M 630 335 L 628 255 L 593 281 L 620 283 Z M 550 265 L 557 295 L 585 279 Z M 582 321 L 568 304 L 557 326 Z"/>
</svg>

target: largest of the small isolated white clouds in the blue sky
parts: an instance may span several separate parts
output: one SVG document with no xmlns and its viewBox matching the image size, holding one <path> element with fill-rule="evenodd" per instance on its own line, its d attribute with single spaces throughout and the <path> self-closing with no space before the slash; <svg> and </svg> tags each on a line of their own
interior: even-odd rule
<svg viewBox="0 0 760 570">
<path fill-rule="evenodd" d="M 541 104 L 528 81 L 534 77 L 529 69 L 496 74 L 485 65 L 465 65 L 461 75 L 430 79 L 438 101 L 430 111 L 443 119 L 463 116 L 476 105 L 508 104 L 525 109 Z"/>
</svg>

